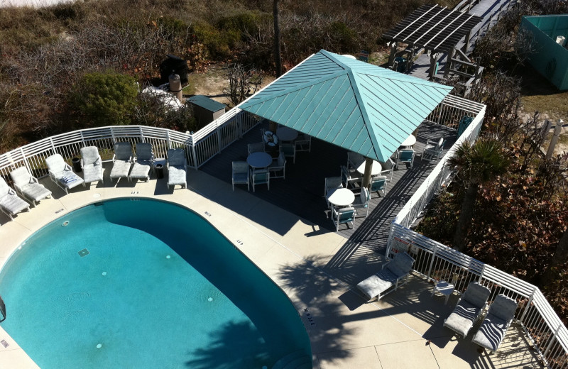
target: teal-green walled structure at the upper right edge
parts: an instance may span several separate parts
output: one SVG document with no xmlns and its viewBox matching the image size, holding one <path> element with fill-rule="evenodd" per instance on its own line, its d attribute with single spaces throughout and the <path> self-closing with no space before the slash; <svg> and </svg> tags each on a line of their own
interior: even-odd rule
<svg viewBox="0 0 568 369">
<path fill-rule="evenodd" d="M 561 91 L 568 89 L 568 14 L 524 16 L 519 30 L 534 40 L 530 65 Z M 520 33 L 521 31 L 519 31 Z"/>
</svg>

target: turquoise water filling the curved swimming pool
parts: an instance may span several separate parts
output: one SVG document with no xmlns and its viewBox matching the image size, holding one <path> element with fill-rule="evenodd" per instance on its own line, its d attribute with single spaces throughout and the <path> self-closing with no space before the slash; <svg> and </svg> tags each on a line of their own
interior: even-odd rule
<svg viewBox="0 0 568 369">
<path fill-rule="evenodd" d="M 65 222 L 65 223 L 64 223 Z M 295 307 L 207 221 L 117 199 L 26 240 L 1 326 L 40 368 L 271 368 L 310 342 Z"/>
</svg>

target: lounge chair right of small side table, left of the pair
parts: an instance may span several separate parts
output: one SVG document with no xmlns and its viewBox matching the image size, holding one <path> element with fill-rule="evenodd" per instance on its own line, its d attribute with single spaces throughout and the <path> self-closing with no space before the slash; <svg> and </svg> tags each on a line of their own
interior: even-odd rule
<svg viewBox="0 0 568 369">
<path fill-rule="evenodd" d="M 470 282 L 466 292 L 459 298 L 452 314 L 449 314 L 447 319 L 444 320 L 444 326 L 465 338 L 481 312 L 485 310 L 489 294 L 491 294 L 491 290 L 487 287 L 478 282 Z"/>
</svg>

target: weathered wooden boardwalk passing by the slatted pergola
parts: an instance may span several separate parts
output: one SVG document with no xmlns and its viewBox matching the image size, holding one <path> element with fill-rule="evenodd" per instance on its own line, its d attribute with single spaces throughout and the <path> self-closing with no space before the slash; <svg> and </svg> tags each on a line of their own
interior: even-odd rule
<svg viewBox="0 0 568 369">
<path fill-rule="evenodd" d="M 471 8 L 469 13 L 474 14 L 476 16 L 481 16 L 483 21 L 479 22 L 477 26 L 471 30 L 471 40 L 468 46 L 469 52 L 474 47 L 476 40 L 482 37 L 486 32 L 487 29 L 491 29 L 498 21 L 498 13 L 500 11 L 506 11 L 508 6 L 512 4 L 512 0 L 481 0 L 479 4 L 476 4 Z M 503 9 L 501 9 L 503 6 Z M 478 32 L 479 31 L 479 32 Z M 464 38 L 457 44 L 457 48 L 463 48 L 465 43 Z M 443 53 L 439 59 L 439 67 L 437 70 L 437 74 L 435 77 L 442 78 L 444 77 L 444 70 L 446 67 L 447 62 L 447 53 Z M 422 79 L 429 79 L 428 77 L 428 70 L 430 69 L 430 57 L 426 54 L 420 55 L 420 57 L 415 60 L 412 69 L 408 72 L 409 75 L 414 77 L 422 78 Z"/>
</svg>

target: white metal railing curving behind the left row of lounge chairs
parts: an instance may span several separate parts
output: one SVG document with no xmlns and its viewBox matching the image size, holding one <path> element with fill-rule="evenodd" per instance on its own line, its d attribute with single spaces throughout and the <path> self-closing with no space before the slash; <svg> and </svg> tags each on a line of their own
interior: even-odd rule
<svg viewBox="0 0 568 369">
<path fill-rule="evenodd" d="M 89 145 L 99 148 L 103 160 L 110 160 L 114 143 L 119 141 L 129 142 L 133 148 L 137 142 L 151 143 L 156 158 L 165 158 L 169 148 L 184 148 L 187 163 L 197 169 L 258 122 L 258 116 L 233 108 L 197 133 L 148 126 L 109 126 L 62 133 L 0 155 L 0 175 L 9 178 L 11 170 L 24 165 L 35 177 L 44 177 L 48 175 L 45 158 L 59 153 L 70 163 L 79 155 L 80 148 Z"/>
</svg>

